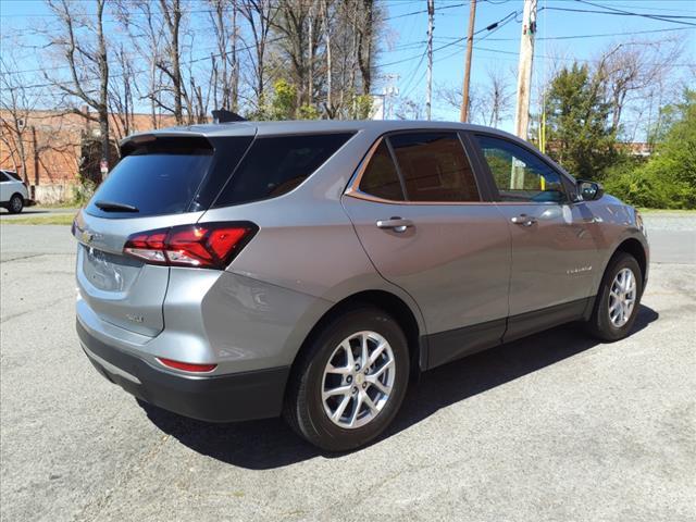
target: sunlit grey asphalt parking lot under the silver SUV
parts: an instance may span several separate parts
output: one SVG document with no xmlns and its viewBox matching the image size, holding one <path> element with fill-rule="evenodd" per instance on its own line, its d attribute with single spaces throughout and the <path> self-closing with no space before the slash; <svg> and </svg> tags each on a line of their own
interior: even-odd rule
<svg viewBox="0 0 696 522">
<path fill-rule="evenodd" d="M 281 420 L 212 425 L 136 402 L 77 343 L 69 227 L 3 224 L 0 518 L 693 521 L 695 221 L 646 217 L 629 338 L 569 325 L 442 366 L 347 455 Z"/>
</svg>

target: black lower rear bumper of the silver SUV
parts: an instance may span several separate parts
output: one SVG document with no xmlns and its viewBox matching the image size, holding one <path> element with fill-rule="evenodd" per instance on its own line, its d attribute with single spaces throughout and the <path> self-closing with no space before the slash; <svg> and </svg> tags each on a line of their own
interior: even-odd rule
<svg viewBox="0 0 696 522">
<path fill-rule="evenodd" d="M 79 320 L 77 335 L 99 373 L 151 405 L 209 422 L 265 419 L 281 413 L 289 366 L 215 376 L 175 375 L 109 346 L 85 330 Z"/>
</svg>

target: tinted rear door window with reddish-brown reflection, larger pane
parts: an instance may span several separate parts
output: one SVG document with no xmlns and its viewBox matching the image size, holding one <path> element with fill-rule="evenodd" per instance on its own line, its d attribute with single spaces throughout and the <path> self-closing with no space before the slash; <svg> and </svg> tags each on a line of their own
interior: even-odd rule
<svg viewBox="0 0 696 522">
<path fill-rule="evenodd" d="M 410 201 L 480 201 L 476 181 L 456 133 L 389 137 Z"/>
</svg>

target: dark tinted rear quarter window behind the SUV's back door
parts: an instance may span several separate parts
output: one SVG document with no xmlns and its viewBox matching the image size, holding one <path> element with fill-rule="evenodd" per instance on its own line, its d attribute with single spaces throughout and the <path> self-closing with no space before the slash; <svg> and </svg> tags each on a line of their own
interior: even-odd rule
<svg viewBox="0 0 696 522">
<path fill-rule="evenodd" d="M 351 136 L 324 134 L 256 139 L 215 201 L 215 207 L 275 198 L 289 192 Z"/>
</svg>

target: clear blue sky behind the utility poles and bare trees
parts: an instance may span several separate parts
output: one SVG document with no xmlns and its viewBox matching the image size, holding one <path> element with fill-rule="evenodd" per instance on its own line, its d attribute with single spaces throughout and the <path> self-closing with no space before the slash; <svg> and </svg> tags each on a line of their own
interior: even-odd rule
<svg viewBox="0 0 696 522">
<path fill-rule="evenodd" d="M 696 0 L 591 0 L 595 5 L 575 0 L 538 0 L 537 42 L 533 82 L 542 82 L 547 71 L 573 59 L 592 61 L 608 46 L 627 41 L 655 40 L 671 35 L 681 38 L 684 53 L 674 67 L 674 82 L 684 78 L 687 65 L 696 63 L 696 26 L 642 16 L 608 15 L 587 12 L 561 11 L 561 9 L 598 10 L 620 9 L 641 14 L 661 16 L 694 16 L 681 20 L 696 24 Z M 195 3 L 195 2 L 194 2 Z M 398 75 L 393 80 L 400 96 L 417 102 L 425 100 L 425 50 L 427 15 L 426 0 L 382 0 L 386 10 L 388 29 L 381 41 L 378 57 L 381 75 Z M 482 32 L 474 45 L 472 82 L 485 85 L 487 70 L 500 70 L 508 75 L 510 88 L 514 88 L 520 40 L 522 0 L 478 0 L 475 29 L 480 30 L 498 21 L 505 24 L 493 32 Z M 517 13 L 517 14 L 515 14 Z M 41 27 L 51 21 L 48 9 L 40 0 L 0 0 L 0 51 L 14 45 L 16 38 L 25 44 L 37 44 L 32 27 Z M 435 0 L 434 30 L 434 86 L 455 87 L 463 76 L 464 42 L 452 44 L 465 36 L 469 21 L 469 2 L 465 0 Z M 110 22 L 115 29 L 115 24 Z M 109 25 L 108 25 L 109 27 Z M 654 32 L 654 33 L 652 33 Z M 625 33 L 625 35 L 624 35 Z M 573 38 L 584 36 L 583 38 Z M 559 39 L 562 37 L 562 39 Z M 30 49 L 22 52 L 23 69 L 39 69 L 37 53 Z M 693 74 L 693 73 L 692 73 Z M 381 91 L 385 80 L 377 80 Z M 458 110 L 449 108 L 435 97 L 434 116 L 457 120 Z M 511 127 L 507 119 L 504 128 Z"/>
</svg>

